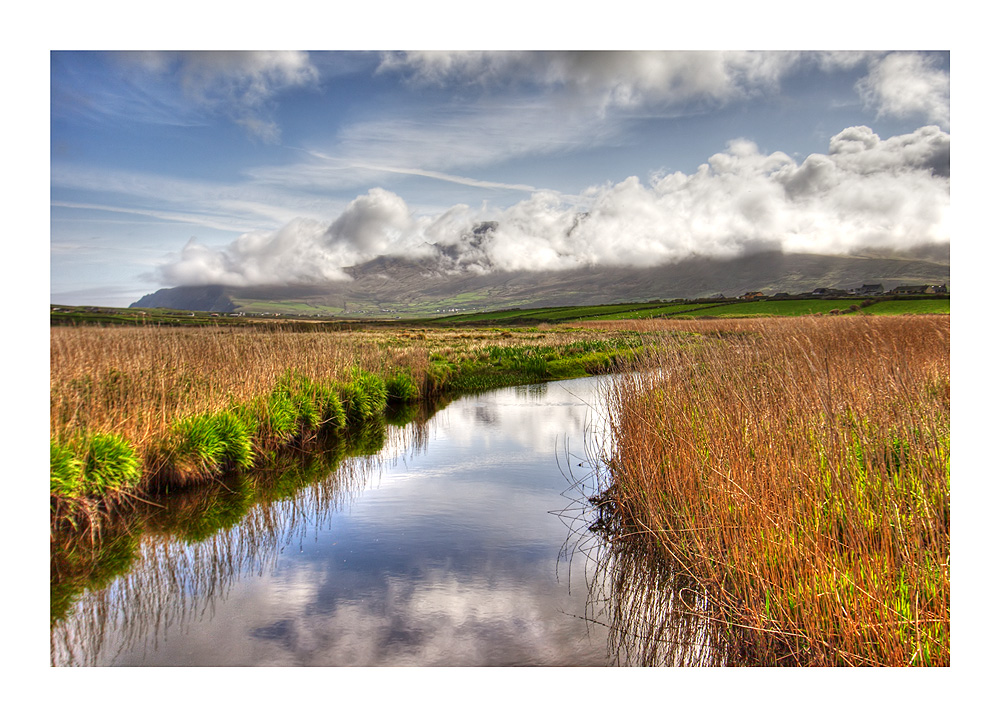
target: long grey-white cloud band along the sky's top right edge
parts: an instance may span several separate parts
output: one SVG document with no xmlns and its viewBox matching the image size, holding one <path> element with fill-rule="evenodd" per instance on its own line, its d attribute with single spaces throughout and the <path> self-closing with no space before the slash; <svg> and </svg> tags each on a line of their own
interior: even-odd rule
<svg viewBox="0 0 1000 717">
<path fill-rule="evenodd" d="M 855 90 L 879 116 L 921 117 L 948 128 L 950 75 L 915 52 L 396 52 L 378 72 L 415 85 L 503 88 L 533 84 L 600 110 L 721 106 L 775 93 L 805 67 L 834 72 L 867 64 Z"/>
</svg>

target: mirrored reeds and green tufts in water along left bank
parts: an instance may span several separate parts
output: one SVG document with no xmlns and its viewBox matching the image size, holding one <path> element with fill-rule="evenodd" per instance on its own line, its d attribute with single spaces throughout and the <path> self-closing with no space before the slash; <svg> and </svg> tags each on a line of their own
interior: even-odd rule
<svg viewBox="0 0 1000 717">
<path fill-rule="evenodd" d="M 252 475 L 158 496 L 93 542 L 54 534 L 51 663 L 109 664 L 123 651 L 155 651 L 170 631 L 210 614 L 242 577 L 272 570 L 289 546 L 328 526 L 386 467 L 426 451 L 429 413 L 403 427 L 368 425 L 350 444 L 301 446 Z"/>
</svg>

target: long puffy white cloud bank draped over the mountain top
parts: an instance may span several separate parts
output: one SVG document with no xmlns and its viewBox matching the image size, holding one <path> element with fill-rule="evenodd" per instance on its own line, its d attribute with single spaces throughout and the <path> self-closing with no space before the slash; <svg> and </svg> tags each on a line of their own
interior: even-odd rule
<svg viewBox="0 0 1000 717">
<path fill-rule="evenodd" d="M 736 139 L 695 172 L 540 191 L 505 209 L 456 205 L 417 216 L 381 188 L 329 223 L 300 219 L 210 248 L 191 241 L 161 267 L 170 285 L 344 278 L 379 255 L 433 257 L 443 270 L 658 266 L 763 249 L 846 254 L 950 241 L 950 137 L 936 126 L 888 139 L 849 127 L 801 162 Z M 489 223 L 484 223 L 489 221 Z"/>
</svg>

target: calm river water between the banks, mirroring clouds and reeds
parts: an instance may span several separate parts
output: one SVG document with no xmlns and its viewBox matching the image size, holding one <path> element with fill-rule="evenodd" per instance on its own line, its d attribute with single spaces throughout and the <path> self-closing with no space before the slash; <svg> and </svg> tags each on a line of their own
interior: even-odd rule
<svg viewBox="0 0 1000 717">
<path fill-rule="evenodd" d="M 460 399 L 207 537 L 147 527 L 53 664 L 613 664 L 588 561 L 560 557 L 600 381 Z"/>
</svg>

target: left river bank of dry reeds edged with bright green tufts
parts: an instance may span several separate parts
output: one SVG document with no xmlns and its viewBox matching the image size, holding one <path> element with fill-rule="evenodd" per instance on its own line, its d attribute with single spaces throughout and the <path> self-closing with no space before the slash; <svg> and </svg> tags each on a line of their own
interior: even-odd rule
<svg viewBox="0 0 1000 717">
<path fill-rule="evenodd" d="M 100 518 L 390 409 L 608 371 L 638 345 L 576 329 L 53 327 L 53 516 Z"/>
</svg>

